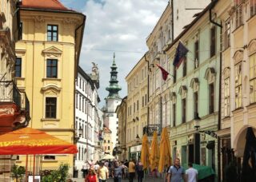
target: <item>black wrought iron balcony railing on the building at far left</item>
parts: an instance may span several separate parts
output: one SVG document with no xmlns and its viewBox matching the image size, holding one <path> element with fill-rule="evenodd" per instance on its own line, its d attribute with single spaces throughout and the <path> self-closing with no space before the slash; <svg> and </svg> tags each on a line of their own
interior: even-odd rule
<svg viewBox="0 0 256 182">
<path fill-rule="evenodd" d="M 26 119 L 30 120 L 30 101 L 14 81 L 0 81 L 0 103 L 14 103 L 26 114 Z"/>
</svg>

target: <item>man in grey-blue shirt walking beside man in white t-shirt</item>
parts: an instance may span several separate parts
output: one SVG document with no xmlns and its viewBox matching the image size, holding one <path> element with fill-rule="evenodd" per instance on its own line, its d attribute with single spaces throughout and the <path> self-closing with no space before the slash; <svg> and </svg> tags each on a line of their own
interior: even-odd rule
<svg viewBox="0 0 256 182">
<path fill-rule="evenodd" d="M 180 165 L 179 158 L 174 160 L 174 165 L 170 166 L 168 171 L 167 181 L 168 182 L 182 182 L 185 181 L 185 170 Z"/>
</svg>

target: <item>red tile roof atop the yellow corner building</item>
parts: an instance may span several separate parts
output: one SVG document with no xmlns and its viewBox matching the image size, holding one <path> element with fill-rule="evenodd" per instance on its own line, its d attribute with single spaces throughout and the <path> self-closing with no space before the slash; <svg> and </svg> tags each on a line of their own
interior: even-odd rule
<svg viewBox="0 0 256 182">
<path fill-rule="evenodd" d="M 48 10 L 69 10 L 58 0 L 22 0 L 21 7 Z"/>
</svg>

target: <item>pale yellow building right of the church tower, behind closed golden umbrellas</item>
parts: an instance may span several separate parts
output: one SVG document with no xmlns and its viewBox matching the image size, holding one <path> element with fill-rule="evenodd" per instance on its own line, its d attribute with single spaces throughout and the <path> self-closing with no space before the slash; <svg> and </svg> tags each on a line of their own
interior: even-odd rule
<svg viewBox="0 0 256 182">
<path fill-rule="evenodd" d="M 126 76 L 128 94 L 126 101 L 126 159 L 140 158 L 143 128 L 148 124 L 148 62 L 147 53 Z M 138 140 L 140 139 L 140 140 Z"/>
</svg>

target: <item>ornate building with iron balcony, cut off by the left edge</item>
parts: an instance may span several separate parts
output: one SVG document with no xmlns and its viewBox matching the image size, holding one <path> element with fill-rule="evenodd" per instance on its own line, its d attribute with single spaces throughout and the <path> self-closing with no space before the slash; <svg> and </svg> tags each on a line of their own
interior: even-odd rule
<svg viewBox="0 0 256 182">
<path fill-rule="evenodd" d="M 14 83 L 15 42 L 19 38 L 18 1 L 0 2 L 0 135 L 29 125 L 30 101 Z M 0 159 L 0 181 L 10 181 L 16 156 Z"/>
</svg>

